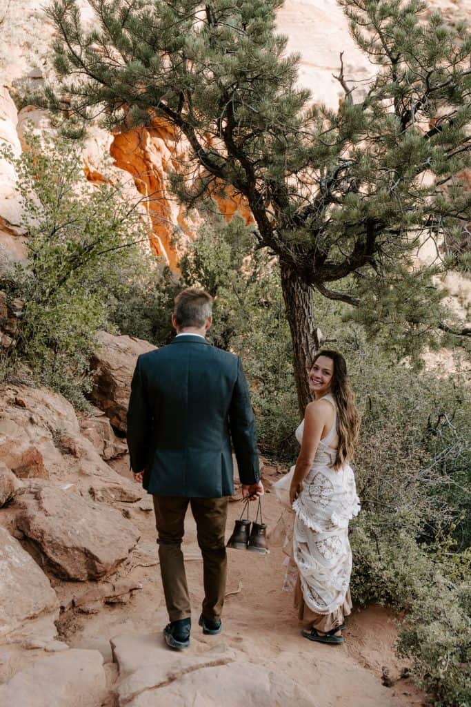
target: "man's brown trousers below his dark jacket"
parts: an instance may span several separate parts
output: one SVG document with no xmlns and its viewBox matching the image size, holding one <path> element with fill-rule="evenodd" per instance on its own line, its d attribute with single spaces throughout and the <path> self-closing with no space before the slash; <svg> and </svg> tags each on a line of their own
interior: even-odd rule
<svg viewBox="0 0 471 707">
<path fill-rule="evenodd" d="M 170 621 L 191 617 L 181 541 L 186 509 L 190 503 L 196 520 L 198 545 L 203 556 L 203 616 L 219 621 L 226 588 L 227 558 L 225 529 L 227 496 L 222 498 L 181 498 L 153 496 L 160 573 Z"/>
</svg>

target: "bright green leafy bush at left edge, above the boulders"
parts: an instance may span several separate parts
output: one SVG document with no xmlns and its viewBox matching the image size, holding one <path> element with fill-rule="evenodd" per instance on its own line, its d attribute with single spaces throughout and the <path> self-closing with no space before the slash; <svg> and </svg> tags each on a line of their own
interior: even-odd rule
<svg viewBox="0 0 471 707">
<path fill-rule="evenodd" d="M 96 333 L 109 323 L 108 291 L 121 267 L 140 271 L 146 235 L 119 188 L 85 180 L 78 145 L 29 136 L 20 158 L 4 156 L 16 168 L 28 233 L 28 261 L 4 282 L 8 298 L 23 300 L 10 368 L 28 363 L 37 382 L 81 407 Z"/>
</svg>

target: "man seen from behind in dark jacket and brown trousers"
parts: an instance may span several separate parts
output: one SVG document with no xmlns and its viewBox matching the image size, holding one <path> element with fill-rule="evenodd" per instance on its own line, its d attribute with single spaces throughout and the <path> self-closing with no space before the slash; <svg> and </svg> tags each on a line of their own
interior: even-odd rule
<svg viewBox="0 0 471 707">
<path fill-rule="evenodd" d="M 263 493 L 254 414 L 238 356 L 205 340 L 213 300 L 188 289 L 175 298 L 171 344 L 139 356 L 131 384 L 128 445 L 136 481 L 153 494 L 160 571 L 172 648 L 189 645 L 191 605 L 181 540 L 191 505 L 203 555 L 200 625 L 220 633 L 225 595 L 227 496 L 234 492 L 231 438 L 244 497 Z"/>
</svg>

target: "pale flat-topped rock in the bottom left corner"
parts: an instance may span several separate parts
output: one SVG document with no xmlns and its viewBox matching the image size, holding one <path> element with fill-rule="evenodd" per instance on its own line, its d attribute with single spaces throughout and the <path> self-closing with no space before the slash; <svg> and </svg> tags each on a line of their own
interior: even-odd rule
<svg viewBox="0 0 471 707">
<path fill-rule="evenodd" d="M 73 648 L 40 658 L 0 686 L 0 703 L 11 707 L 100 707 L 107 694 L 103 658 Z"/>
</svg>

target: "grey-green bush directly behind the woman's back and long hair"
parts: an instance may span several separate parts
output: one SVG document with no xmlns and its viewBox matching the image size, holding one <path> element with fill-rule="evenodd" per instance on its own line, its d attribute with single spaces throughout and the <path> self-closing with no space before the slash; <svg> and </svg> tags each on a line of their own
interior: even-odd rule
<svg viewBox="0 0 471 707">
<path fill-rule="evenodd" d="M 354 457 L 362 505 L 410 511 L 421 539 L 441 523 L 471 542 L 471 402 L 464 375 L 417 371 L 390 361 L 358 327 L 345 327 L 340 350 L 362 411 Z"/>
</svg>

